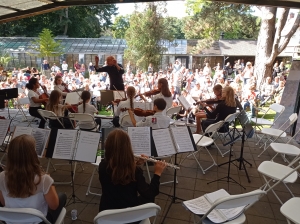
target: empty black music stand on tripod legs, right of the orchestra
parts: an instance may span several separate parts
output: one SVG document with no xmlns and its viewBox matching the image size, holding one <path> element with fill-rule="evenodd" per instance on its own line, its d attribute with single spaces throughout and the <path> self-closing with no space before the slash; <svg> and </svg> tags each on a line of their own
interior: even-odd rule
<svg viewBox="0 0 300 224">
<path fill-rule="evenodd" d="M 225 124 L 224 124 L 224 125 L 225 125 Z M 234 122 L 233 130 L 230 130 L 230 128 L 228 127 L 227 136 L 230 137 L 230 140 L 229 140 L 228 142 L 223 143 L 223 146 L 230 145 L 230 149 L 229 149 L 229 159 L 228 159 L 228 162 L 221 163 L 221 164 L 218 165 L 218 167 L 220 167 L 220 166 L 223 166 L 223 165 L 225 165 L 225 164 L 228 164 L 227 176 L 222 177 L 222 178 L 219 178 L 219 179 L 214 180 L 214 181 L 210 181 L 210 182 L 208 182 L 207 184 L 214 183 L 214 182 L 217 182 L 217 181 L 226 181 L 227 183 L 234 183 L 234 184 L 237 184 L 237 185 L 241 186 L 242 188 L 246 189 L 246 188 L 243 187 L 239 182 L 237 182 L 235 179 L 233 179 L 233 178 L 230 176 L 231 163 L 232 163 L 233 165 L 235 165 L 233 162 L 236 161 L 236 160 L 232 160 L 232 159 L 231 159 L 231 158 L 232 158 L 232 147 L 233 147 L 233 144 L 241 137 L 240 132 L 236 129 L 236 122 Z M 235 166 L 236 166 L 236 165 L 235 165 Z"/>
</svg>

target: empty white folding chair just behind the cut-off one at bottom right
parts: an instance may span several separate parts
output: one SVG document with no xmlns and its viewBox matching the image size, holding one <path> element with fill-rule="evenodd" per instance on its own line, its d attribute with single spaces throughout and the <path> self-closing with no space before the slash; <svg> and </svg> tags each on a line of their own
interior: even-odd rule
<svg viewBox="0 0 300 224">
<path fill-rule="evenodd" d="M 295 159 L 293 162 L 291 162 L 288 166 L 275 163 L 272 161 L 264 161 L 262 162 L 257 170 L 259 173 L 262 174 L 265 184 L 261 187 L 261 189 L 266 190 L 267 192 L 272 191 L 275 197 L 278 199 L 278 201 L 282 203 L 278 195 L 273 190 L 276 185 L 279 183 L 283 183 L 284 186 L 287 188 L 287 190 L 290 192 L 292 197 L 294 197 L 293 192 L 290 190 L 290 188 L 287 186 L 287 183 L 295 183 L 298 178 L 297 169 L 300 168 L 300 163 L 296 167 L 292 168 L 293 165 L 297 162 L 299 162 L 300 157 Z M 267 179 L 269 178 L 269 180 Z M 271 185 L 270 183 L 272 180 L 275 181 L 275 184 Z"/>
</svg>

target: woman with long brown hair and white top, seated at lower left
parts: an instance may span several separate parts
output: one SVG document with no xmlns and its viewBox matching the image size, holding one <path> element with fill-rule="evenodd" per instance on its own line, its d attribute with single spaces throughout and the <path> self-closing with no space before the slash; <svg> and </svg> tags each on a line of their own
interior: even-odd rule
<svg viewBox="0 0 300 224">
<path fill-rule="evenodd" d="M 53 179 L 41 169 L 30 135 L 14 138 L 8 147 L 5 171 L 0 173 L 0 202 L 7 208 L 34 208 L 55 223 L 66 204 L 57 194 Z"/>
</svg>

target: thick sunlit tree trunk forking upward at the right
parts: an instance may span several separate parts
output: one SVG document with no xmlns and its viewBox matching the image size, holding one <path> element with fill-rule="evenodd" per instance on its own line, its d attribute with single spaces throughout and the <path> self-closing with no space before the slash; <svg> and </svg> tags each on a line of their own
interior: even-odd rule
<svg viewBox="0 0 300 224">
<path fill-rule="evenodd" d="M 275 58 L 286 48 L 300 24 L 299 14 L 294 19 L 287 19 L 288 8 L 279 11 L 276 7 L 261 7 L 260 10 L 263 17 L 254 65 L 258 86 L 263 84 L 264 78 L 272 75 Z"/>
</svg>

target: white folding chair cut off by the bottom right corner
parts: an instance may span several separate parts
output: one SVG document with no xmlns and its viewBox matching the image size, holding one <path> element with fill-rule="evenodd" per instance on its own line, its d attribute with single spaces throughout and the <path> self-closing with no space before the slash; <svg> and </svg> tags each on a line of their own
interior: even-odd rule
<svg viewBox="0 0 300 224">
<path fill-rule="evenodd" d="M 295 197 L 291 198 L 290 200 L 286 201 L 281 207 L 280 212 L 284 215 L 287 219 L 287 222 L 290 224 L 292 221 L 293 223 L 300 223 L 300 198 Z"/>
</svg>

